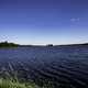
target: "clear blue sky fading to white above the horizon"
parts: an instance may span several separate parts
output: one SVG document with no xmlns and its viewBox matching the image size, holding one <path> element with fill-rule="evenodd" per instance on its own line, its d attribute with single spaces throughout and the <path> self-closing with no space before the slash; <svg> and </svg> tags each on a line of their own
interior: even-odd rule
<svg viewBox="0 0 88 88">
<path fill-rule="evenodd" d="M 88 0 L 0 0 L 0 42 L 88 43 Z"/>
</svg>

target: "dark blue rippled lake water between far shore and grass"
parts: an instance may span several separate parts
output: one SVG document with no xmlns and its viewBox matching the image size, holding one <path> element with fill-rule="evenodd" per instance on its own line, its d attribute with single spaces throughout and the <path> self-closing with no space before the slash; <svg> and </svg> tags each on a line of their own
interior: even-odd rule
<svg viewBox="0 0 88 88">
<path fill-rule="evenodd" d="M 9 76 L 7 72 L 15 73 L 21 79 L 32 79 L 40 86 L 48 84 L 51 88 L 88 88 L 88 48 L 0 48 L 0 76 Z"/>
</svg>

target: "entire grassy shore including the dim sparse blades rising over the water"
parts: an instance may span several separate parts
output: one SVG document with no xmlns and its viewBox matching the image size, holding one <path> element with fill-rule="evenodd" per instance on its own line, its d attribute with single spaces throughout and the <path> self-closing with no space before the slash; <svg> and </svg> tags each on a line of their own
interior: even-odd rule
<svg viewBox="0 0 88 88">
<path fill-rule="evenodd" d="M 7 72 L 0 76 L 0 88 L 55 88 L 53 81 L 47 81 L 47 79 L 43 82 L 40 82 L 40 80 L 36 82 L 31 79 L 25 80 L 19 78 L 15 72 L 12 74 L 11 76 Z"/>
</svg>

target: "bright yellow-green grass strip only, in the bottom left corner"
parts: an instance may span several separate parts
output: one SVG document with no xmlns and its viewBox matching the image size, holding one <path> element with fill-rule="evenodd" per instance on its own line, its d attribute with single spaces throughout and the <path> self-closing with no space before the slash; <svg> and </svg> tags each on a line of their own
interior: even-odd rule
<svg viewBox="0 0 88 88">
<path fill-rule="evenodd" d="M 40 88 L 35 84 L 32 82 L 20 82 L 14 79 L 3 79 L 0 78 L 0 88 Z"/>
</svg>

